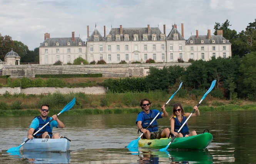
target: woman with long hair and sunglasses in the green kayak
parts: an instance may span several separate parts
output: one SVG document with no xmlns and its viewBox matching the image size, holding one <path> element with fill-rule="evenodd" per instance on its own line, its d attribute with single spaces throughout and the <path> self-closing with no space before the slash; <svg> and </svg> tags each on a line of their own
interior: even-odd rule
<svg viewBox="0 0 256 164">
<path fill-rule="evenodd" d="M 191 115 L 191 117 L 200 116 L 200 112 L 198 110 L 197 106 L 194 106 L 195 113 Z M 171 120 L 171 136 L 176 137 L 188 137 L 188 136 L 194 136 L 197 135 L 196 131 L 192 131 L 189 133 L 189 128 L 187 127 L 187 123 L 183 126 L 181 131 L 179 131 L 179 128 L 183 125 L 183 123 L 186 121 L 187 117 L 191 113 L 184 113 L 184 109 L 181 105 L 181 103 L 176 103 L 173 105 L 172 108 L 172 116 L 170 117 Z"/>
</svg>

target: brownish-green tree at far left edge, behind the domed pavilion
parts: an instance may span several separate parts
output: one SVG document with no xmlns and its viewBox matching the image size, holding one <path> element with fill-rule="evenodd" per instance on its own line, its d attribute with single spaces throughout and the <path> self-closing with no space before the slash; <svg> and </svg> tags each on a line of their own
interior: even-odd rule
<svg viewBox="0 0 256 164">
<path fill-rule="evenodd" d="M 12 47 L 14 46 L 14 42 L 12 40 L 12 37 L 5 35 L 2 36 L 0 34 L 0 59 L 3 61 L 5 55 L 7 52 L 10 52 L 12 50 Z"/>
</svg>

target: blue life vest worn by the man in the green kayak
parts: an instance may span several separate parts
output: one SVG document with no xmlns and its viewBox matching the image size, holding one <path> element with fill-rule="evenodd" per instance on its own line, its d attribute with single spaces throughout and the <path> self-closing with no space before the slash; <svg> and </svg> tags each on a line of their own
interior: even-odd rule
<svg viewBox="0 0 256 164">
<path fill-rule="evenodd" d="M 152 110 L 150 110 L 151 115 L 150 117 L 147 115 L 147 113 L 145 113 L 144 111 L 141 111 L 140 113 L 143 114 L 144 116 L 144 121 L 142 122 L 142 127 L 144 129 L 147 128 L 147 126 L 149 126 L 149 124 L 151 123 L 152 120 L 154 120 L 154 118 L 156 117 L 156 113 L 152 112 Z M 158 131 L 158 126 L 157 126 L 157 121 L 155 120 L 150 126 L 149 128 L 147 128 L 147 130 L 149 130 L 150 132 L 155 132 Z"/>
</svg>

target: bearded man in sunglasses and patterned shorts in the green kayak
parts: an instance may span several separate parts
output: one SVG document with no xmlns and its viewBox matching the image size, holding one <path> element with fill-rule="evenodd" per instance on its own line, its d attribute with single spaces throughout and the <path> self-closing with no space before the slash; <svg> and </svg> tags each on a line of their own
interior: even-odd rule
<svg viewBox="0 0 256 164">
<path fill-rule="evenodd" d="M 158 131 L 157 121 L 154 120 L 156 115 L 159 113 L 159 110 L 153 109 L 150 110 L 151 102 L 149 99 L 144 98 L 141 100 L 141 108 L 142 111 L 138 114 L 136 124 L 139 128 L 139 131 L 141 131 L 143 134 L 142 138 L 144 139 L 160 139 L 168 137 L 170 134 L 169 128 L 165 128 L 164 130 Z M 162 117 L 168 117 L 168 113 L 165 110 L 164 105 L 162 106 L 162 111 L 156 119 L 162 118 Z M 150 125 L 151 121 L 153 123 Z M 150 125 L 150 126 L 149 126 Z M 148 129 L 147 126 L 149 126 Z M 138 131 L 138 132 L 139 132 Z"/>
</svg>

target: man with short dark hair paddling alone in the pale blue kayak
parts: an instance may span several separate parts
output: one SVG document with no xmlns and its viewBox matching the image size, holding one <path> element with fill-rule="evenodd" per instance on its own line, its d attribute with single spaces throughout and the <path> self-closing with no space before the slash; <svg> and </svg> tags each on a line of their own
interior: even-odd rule
<svg viewBox="0 0 256 164">
<path fill-rule="evenodd" d="M 33 133 L 38 131 L 40 128 L 42 128 L 46 123 L 48 123 L 51 119 L 51 121 L 47 126 L 44 127 L 43 130 L 40 130 L 36 135 L 35 138 L 63 138 L 63 136 L 59 136 L 59 133 L 52 134 L 52 128 L 64 128 L 65 125 L 60 121 L 57 117 L 57 115 L 53 115 L 52 117 L 47 116 L 49 114 L 49 105 L 44 104 L 40 108 L 40 116 L 36 116 L 32 123 L 30 124 L 29 130 L 28 130 L 28 139 L 33 139 Z"/>
</svg>

